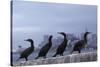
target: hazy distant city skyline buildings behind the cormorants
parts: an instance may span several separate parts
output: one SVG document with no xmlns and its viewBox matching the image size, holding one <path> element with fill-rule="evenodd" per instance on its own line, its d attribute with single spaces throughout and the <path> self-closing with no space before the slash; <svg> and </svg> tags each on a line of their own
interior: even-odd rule
<svg viewBox="0 0 100 67">
<path fill-rule="evenodd" d="M 68 38 L 68 48 L 72 48 L 75 43 L 83 38 L 83 33 L 80 34 L 80 37 L 75 36 L 74 34 L 67 34 Z M 43 41 L 39 44 L 39 48 L 43 47 L 48 42 L 49 35 L 44 35 Z M 57 37 L 52 39 L 52 48 L 56 49 L 60 43 L 63 41 L 63 37 Z M 92 34 L 91 39 L 88 41 L 86 49 L 97 49 L 97 38 L 96 34 Z"/>
</svg>

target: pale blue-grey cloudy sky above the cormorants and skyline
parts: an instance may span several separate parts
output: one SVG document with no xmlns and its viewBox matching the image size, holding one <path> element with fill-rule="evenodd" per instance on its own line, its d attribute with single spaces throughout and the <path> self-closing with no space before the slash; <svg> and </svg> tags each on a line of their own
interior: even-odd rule
<svg viewBox="0 0 100 67">
<path fill-rule="evenodd" d="M 32 38 L 35 46 L 43 35 L 66 33 L 96 33 L 97 7 L 90 5 L 57 4 L 29 1 L 13 2 L 13 47 L 29 46 L 24 39 Z M 54 38 L 56 38 L 56 36 Z M 27 47 L 26 46 L 26 47 Z"/>
</svg>

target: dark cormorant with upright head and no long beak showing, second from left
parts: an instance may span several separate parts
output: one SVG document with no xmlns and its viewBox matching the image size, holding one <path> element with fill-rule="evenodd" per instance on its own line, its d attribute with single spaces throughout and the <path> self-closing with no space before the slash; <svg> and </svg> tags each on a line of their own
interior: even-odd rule
<svg viewBox="0 0 100 67">
<path fill-rule="evenodd" d="M 52 35 L 49 36 L 48 39 L 48 43 L 46 43 L 41 49 L 40 52 L 38 54 L 38 56 L 35 59 L 38 59 L 39 57 L 44 57 L 46 58 L 46 54 L 48 53 L 48 51 L 50 50 L 51 46 L 52 46 Z"/>
</svg>

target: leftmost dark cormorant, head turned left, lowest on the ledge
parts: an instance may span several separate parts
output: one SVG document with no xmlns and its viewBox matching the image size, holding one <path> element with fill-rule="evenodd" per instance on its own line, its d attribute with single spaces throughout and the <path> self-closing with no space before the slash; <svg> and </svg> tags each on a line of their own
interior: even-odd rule
<svg viewBox="0 0 100 67">
<path fill-rule="evenodd" d="M 25 49 L 21 54 L 20 54 L 20 57 L 19 59 L 21 58 L 25 58 L 26 61 L 28 60 L 28 56 L 34 51 L 34 41 L 32 39 L 27 39 L 27 40 L 24 40 L 24 41 L 28 41 L 31 43 L 31 46 L 27 49 Z M 19 60 L 18 59 L 18 60 Z"/>
</svg>

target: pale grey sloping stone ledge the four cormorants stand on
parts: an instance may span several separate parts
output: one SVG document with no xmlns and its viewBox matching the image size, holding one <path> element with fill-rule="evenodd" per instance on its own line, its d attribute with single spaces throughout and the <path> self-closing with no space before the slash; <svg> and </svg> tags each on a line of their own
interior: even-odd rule
<svg viewBox="0 0 100 67">
<path fill-rule="evenodd" d="M 75 63 L 97 61 L 97 52 L 77 53 L 60 57 L 51 57 L 46 59 L 37 59 L 30 61 L 20 61 L 13 63 L 13 66 L 42 65 L 42 64 L 58 64 L 58 63 Z"/>
</svg>

